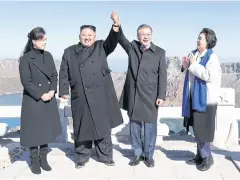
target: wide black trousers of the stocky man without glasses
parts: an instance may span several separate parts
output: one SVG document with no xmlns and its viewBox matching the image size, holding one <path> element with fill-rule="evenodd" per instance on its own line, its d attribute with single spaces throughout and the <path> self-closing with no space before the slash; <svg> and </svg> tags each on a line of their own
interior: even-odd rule
<svg viewBox="0 0 240 180">
<path fill-rule="evenodd" d="M 77 162 L 85 163 L 89 160 L 93 142 L 99 161 L 106 162 L 113 159 L 112 139 L 111 133 L 109 133 L 107 136 L 99 140 L 82 142 L 75 141 Z"/>
</svg>

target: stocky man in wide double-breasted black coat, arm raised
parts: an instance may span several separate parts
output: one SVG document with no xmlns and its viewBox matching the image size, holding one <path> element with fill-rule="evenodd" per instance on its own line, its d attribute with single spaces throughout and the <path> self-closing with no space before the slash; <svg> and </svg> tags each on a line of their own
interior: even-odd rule
<svg viewBox="0 0 240 180">
<path fill-rule="evenodd" d="M 59 73 L 59 96 L 67 99 L 71 87 L 75 167 L 89 160 L 92 141 L 101 162 L 114 165 L 111 129 L 122 124 L 122 114 L 107 63 L 107 56 L 119 41 L 119 17 L 111 15 L 113 26 L 105 41 L 96 41 L 96 28 L 83 25 L 80 42 L 64 51 Z"/>
</svg>

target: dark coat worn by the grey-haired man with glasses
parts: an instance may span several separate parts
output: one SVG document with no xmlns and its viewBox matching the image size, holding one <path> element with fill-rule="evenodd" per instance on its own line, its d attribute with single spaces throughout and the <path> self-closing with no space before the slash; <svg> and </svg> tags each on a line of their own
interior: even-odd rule
<svg viewBox="0 0 240 180">
<path fill-rule="evenodd" d="M 140 42 L 131 43 L 121 30 L 120 45 L 128 54 L 129 66 L 123 92 L 121 108 L 128 112 L 131 120 L 154 122 L 157 120 L 157 98 L 165 100 L 167 66 L 165 50 L 151 44 L 147 51 Z"/>
</svg>

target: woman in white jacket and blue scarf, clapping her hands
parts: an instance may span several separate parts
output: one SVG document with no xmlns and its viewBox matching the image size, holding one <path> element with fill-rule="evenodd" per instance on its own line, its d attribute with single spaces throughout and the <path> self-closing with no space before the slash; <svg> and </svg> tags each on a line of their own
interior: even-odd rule
<svg viewBox="0 0 240 180">
<path fill-rule="evenodd" d="M 182 115 L 184 126 L 193 127 L 197 154 L 187 161 L 201 171 L 214 163 L 210 143 L 214 138 L 215 116 L 221 87 L 221 66 L 213 48 L 217 43 L 213 30 L 204 28 L 197 40 L 197 49 L 183 60 L 186 76 L 183 89 Z"/>
</svg>

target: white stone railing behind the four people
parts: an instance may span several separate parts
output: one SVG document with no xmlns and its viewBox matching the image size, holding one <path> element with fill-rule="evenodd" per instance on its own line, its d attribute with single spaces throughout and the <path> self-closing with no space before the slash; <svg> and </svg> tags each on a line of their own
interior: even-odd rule
<svg viewBox="0 0 240 180">
<path fill-rule="evenodd" d="M 57 138 L 57 142 L 68 142 L 68 117 L 72 117 L 71 106 L 67 101 L 58 99 L 59 114 L 62 124 L 63 133 Z M 14 110 L 12 110 L 14 108 Z M 19 117 L 21 107 L 1 107 L 0 117 Z M 240 113 L 236 113 L 238 109 L 235 108 L 235 91 L 232 88 L 222 88 L 219 104 L 216 115 L 216 127 L 215 127 L 215 140 L 214 146 L 225 147 L 229 145 L 238 144 L 238 123 L 240 120 Z M 239 114 L 239 115 L 238 115 Z M 125 128 L 129 123 L 127 113 L 122 110 L 124 123 L 112 130 L 113 135 L 129 135 L 129 128 Z M 160 107 L 158 113 L 158 136 L 167 136 L 169 133 L 169 125 L 165 123 L 168 119 L 174 119 L 182 121 L 181 107 Z M 182 124 L 181 124 L 182 126 Z M 1 129 L 2 128 L 2 129 Z M 7 132 L 7 126 L 0 126 L 0 136 L 3 136 Z"/>
</svg>

